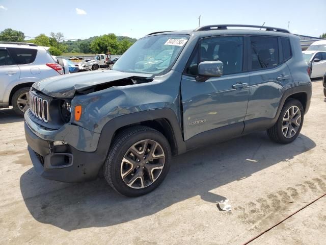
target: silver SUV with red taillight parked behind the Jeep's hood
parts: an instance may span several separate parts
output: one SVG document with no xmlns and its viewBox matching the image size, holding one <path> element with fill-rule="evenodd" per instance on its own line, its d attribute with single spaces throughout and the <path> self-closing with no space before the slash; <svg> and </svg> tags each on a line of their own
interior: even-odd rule
<svg viewBox="0 0 326 245">
<path fill-rule="evenodd" d="M 42 79 L 63 75 L 63 68 L 34 43 L 0 42 L 0 108 L 13 106 L 23 115 L 30 107 L 29 90 Z"/>
</svg>

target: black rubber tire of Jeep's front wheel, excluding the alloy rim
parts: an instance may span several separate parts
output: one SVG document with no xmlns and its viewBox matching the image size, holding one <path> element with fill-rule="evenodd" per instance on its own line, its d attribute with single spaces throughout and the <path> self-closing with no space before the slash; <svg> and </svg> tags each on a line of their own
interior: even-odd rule
<svg viewBox="0 0 326 245">
<path fill-rule="evenodd" d="M 141 140 L 155 140 L 158 142 L 165 154 L 164 167 L 157 179 L 147 187 L 134 189 L 129 187 L 122 179 L 122 159 L 129 148 Z M 127 197 L 139 197 L 147 194 L 158 187 L 168 174 L 171 163 L 171 148 L 168 140 L 160 132 L 145 126 L 135 126 L 118 134 L 108 152 L 106 162 L 103 166 L 104 177 L 110 186 L 117 192 Z"/>
</svg>

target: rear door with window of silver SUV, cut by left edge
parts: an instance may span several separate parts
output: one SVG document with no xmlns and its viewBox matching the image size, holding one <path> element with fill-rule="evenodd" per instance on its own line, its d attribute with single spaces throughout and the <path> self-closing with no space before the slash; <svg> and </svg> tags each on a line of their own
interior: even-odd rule
<svg viewBox="0 0 326 245">
<path fill-rule="evenodd" d="M 19 82 L 19 67 L 8 53 L 0 47 L 0 103 L 8 103 L 11 89 Z"/>
</svg>

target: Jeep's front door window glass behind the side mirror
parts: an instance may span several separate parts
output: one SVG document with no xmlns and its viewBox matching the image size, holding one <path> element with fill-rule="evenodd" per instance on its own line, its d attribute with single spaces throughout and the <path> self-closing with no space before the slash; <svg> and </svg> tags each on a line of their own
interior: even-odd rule
<svg viewBox="0 0 326 245">
<path fill-rule="evenodd" d="M 199 59 L 198 59 L 199 54 Z M 186 68 L 189 75 L 198 75 L 198 62 L 222 61 L 223 74 L 235 74 L 242 71 L 243 63 L 242 37 L 205 38 L 199 45 L 199 50 L 193 55 Z"/>
</svg>

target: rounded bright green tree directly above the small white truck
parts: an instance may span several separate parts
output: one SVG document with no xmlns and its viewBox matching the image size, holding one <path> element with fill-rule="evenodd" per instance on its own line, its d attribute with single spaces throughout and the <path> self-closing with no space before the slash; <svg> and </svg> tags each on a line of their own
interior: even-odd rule
<svg viewBox="0 0 326 245">
<path fill-rule="evenodd" d="M 105 54 L 110 52 L 112 55 L 116 55 L 118 54 L 117 36 L 111 33 L 96 37 L 94 41 L 91 42 L 90 47 L 95 53 Z"/>
</svg>

